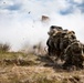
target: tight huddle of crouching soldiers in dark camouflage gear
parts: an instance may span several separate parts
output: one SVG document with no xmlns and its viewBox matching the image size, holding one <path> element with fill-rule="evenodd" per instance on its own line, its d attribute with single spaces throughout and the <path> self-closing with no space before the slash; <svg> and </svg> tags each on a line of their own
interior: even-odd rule
<svg viewBox="0 0 84 83">
<path fill-rule="evenodd" d="M 63 30 L 61 27 L 52 25 L 48 34 L 46 45 L 49 55 L 55 55 L 64 60 L 63 68 L 72 65 L 83 68 L 84 44 L 76 40 L 74 31 Z"/>
</svg>

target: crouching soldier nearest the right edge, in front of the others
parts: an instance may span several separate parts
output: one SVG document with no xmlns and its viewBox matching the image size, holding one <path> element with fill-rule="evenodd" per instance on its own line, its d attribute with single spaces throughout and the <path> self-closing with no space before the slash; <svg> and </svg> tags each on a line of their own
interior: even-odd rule
<svg viewBox="0 0 84 83">
<path fill-rule="evenodd" d="M 76 68 L 83 69 L 84 53 L 83 44 L 80 41 L 71 43 L 65 50 L 65 63 L 64 69 L 75 65 Z"/>
</svg>

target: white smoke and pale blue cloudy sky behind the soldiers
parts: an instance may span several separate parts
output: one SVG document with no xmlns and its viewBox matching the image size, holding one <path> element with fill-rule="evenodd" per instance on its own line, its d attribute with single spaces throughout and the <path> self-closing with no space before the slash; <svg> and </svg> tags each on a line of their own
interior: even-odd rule
<svg viewBox="0 0 84 83">
<path fill-rule="evenodd" d="M 41 17 L 48 15 L 49 22 Z M 84 0 L 0 0 L 0 42 L 19 50 L 25 42 L 46 41 L 50 25 L 74 30 L 84 42 Z"/>
</svg>

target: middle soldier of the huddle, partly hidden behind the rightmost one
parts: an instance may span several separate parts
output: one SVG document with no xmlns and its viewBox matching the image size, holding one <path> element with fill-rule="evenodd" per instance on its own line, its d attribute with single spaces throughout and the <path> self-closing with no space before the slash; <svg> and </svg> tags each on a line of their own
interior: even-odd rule
<svg viewBox="0 0 84 83">
<path fill-rule="evenodd" d="M 69 44 L 73 43 L 76 40 L 76 37 L 74 31 L 64 30 L 60 40 L 61 59 L 63 60 L 64 50 Z"/>
</svg>

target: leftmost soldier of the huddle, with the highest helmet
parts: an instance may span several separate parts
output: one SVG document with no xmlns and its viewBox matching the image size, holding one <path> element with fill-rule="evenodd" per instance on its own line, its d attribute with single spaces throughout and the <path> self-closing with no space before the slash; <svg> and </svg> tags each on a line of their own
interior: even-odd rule
<svg viewBox="0 0 84 83">
<path fill-rule="evenodd" d="M 52 25 L 50 28 L 50 32 L 48 32 L 48 34 L 50 35 L 48 42 L 46 42 L 46 45 L 49 46 L 48 51 L 49 51 L 49 55 L 55 55 L 56 54 L 56 50 L 59 49 L 57 45 L 59 45 L 59 39 L 60 39 L 60 34 L 61 34 L 61 31 L 63 29 L 61 27 L 55 27 L 55 25 Z"/>
</svg>

